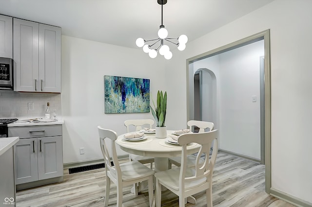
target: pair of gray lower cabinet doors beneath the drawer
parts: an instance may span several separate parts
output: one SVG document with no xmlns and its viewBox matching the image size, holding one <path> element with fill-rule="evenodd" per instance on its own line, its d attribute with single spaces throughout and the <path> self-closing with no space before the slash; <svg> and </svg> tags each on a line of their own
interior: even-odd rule
<svg viewBox="0 0 312 207">
<path fill-rule="evenodd" d="M 63 175 L 62 137 L 25 138 L 15 145 L 16 184 Z"/>
</svg>

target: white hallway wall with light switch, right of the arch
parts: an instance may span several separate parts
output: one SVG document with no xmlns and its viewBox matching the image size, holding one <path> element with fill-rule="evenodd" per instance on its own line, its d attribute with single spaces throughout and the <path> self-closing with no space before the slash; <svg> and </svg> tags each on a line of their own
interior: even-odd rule
<svg viewBox="0 0 312 207">
<path fill-rule="evenodd" d="M 258 41 L 220 57 L 220 145 L 260 160 L 260 56 Z M 256 96 L 257 102 L 252 102 Z"/>
</svg>

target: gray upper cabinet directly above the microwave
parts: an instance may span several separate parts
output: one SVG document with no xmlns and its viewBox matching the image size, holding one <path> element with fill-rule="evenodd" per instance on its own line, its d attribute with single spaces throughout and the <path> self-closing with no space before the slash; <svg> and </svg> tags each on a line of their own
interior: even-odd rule
<svg viewBox="0 0 312 207">
<path fill-rule="evenodd" d="M 13 18 L 0 15 L 0 57 L 13 58 Z"/>
</svg>

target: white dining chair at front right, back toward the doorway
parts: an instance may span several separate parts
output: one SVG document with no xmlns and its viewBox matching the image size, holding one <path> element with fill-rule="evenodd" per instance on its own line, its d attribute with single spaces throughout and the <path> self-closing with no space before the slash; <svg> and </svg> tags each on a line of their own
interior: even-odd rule
<svg viewBox="0 0 312 207">
<path fill-rule="evenodd" d="M 212 177 L 217 155 L 217 137 L 218 131 L 183 134 L 178 138 L 179 145 L 182 145 L 181 167 L 155 173 L 156 177 L 156 207 L 161 203 L 161 187 L 174 192 L 179 196 L 179 207 L 185 206 L 187 197 L 195 193 L 206 190 L 207 206 L 212 207 Z M 195 168 L 189 168 L 187 165 L 187 144 L 198 143 L 200 148 L 196 157 Z M 213 145 L 211 158 L 210 149 Z M 204 154 L 203 163 L 199 163 L 200 155 Z"/>
</svg>

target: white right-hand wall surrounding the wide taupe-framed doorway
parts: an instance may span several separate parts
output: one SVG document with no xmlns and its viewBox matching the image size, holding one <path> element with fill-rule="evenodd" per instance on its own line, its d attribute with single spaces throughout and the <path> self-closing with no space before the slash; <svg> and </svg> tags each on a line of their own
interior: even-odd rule
<svg viewBox="0 0 312 207">
<path fill-rule="evenodd" d="M 186 59 L 270 29 L 272 188 L 312 203 L 312 1 L 275 0 L 174 51 L 166 76 L 174 94 L 168 118 L 172 126 L 186 122 Z M 181 90 L 176 94 L 178 88 Z M 183 88 L 185 89 L 184 91 Z M 179 103 L 179 104 L 177 104 Z M 175 105 L 175 107 L 173 107 Z M 172 115 L 170 115 L 172 116 Z"/>
</svg>

